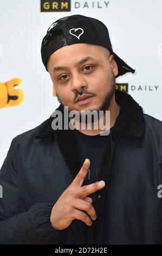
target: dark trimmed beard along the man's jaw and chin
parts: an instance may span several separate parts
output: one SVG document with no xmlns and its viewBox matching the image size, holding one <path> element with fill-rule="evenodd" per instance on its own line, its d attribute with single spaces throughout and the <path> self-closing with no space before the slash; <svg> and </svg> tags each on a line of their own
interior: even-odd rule
<svg viewBox="0 0 162 256">
<path fill-rule="evenodd" d="M 88 94 L 86 92 L 82 92 L 82 94 Z M 115 76 L 112 71 L 111 79 L 109 80 L 109 90 L 103 99 L 101 105 L 99 108 L 96 109 L 87 109 L 86 111 L 81 111 L 80 114 L 77 114 L 73 119 L 75 119 L 79 123 L 89 124 L 89 123 L 95 123 L 96 121 L 99 121 L 100 118 L 100 111 L 102 111 L 102 114 L 104 115 L 108 108 L 111 105 L 111 100 L 113 99 L 113 96 L 115 94 Z M 57 95 L 57 100 L 59 103 L 61 103 L 62 107 L 64 107 L 63 103 L 61 102 L 59 96 Z M 92 112 L 95 111 L 96 115 L 93 115 Z M 68 111 L 70 112 L 70 111 Z"/>
</svg>

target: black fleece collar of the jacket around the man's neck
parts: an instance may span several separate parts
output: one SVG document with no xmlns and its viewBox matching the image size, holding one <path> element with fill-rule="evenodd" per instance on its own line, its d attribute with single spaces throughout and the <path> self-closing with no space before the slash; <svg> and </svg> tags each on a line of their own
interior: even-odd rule
<svg viewBox="0 0 162 256">
<path fill-rule="evenodd" d="M 115 90 L 115 100 L 120 106 L 120 113 L 116 118 L 111 131 L 124 138 L 140 138 L 144 132 L 143 109 L 131 95 L 125 92 L 120 92 L 119 90 Z M 60 110 L 63 113 L 62 104 L 60 104 L 56 110 Z M 55 137 L 57 137 L 57 135 L 59 136 L 62 134 L 62 131 L 66 132 L 68 136 L 68 131 L 70 131 L 70 129 L 56 131 L 52 129 L 51 123 L 53 120 L 54 117 L 50 116 L 40 125 L 36 135 L 37 139 L 46 138 L 51 135 L 55 135 Z"/>
</svg>

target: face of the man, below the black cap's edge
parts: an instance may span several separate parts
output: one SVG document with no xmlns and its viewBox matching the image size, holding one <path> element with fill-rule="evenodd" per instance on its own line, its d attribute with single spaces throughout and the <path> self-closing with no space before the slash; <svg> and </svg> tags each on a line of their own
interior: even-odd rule
<svg viewBox="0 0 162 256">
<path fill-rule="evenodd" d="M 47 65 L 57 98 L 69 111 L 106 110 L 114 96 L 118 66 L 102 46 L 67 45 L 49 57 Z M 89 95 L 77 101 L 77 96 Z M 106 108 L 106 109 L 103 109 Z"/>
</svg>

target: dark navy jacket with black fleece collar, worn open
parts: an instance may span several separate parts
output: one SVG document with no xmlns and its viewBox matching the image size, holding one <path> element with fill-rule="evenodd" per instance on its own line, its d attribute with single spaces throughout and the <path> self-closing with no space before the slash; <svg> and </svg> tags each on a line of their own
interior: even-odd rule
<svg viewBox="0 0 162 256">
<path fill-rule="evenodd" d="M 116 90 L 115 98 L 120 113 L 102 163 L 106 186 L 96 192 L 95 243 L 162 244 L 162 123 L 130 95 Z M 56 231 L 49 221 L 80 169 L 72 131 L 54 131 L 52 120 L 11 142 L 0 172 L 1 244 L 86 244 L 85 223 L 74 220 Z"/>
</svg>

